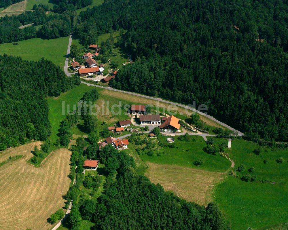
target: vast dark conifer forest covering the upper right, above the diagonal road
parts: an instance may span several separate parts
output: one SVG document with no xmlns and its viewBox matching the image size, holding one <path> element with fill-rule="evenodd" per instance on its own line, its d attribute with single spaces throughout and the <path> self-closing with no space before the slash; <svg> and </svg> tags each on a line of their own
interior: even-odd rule
<svg viewBox="0 0 288 230">
<path fill-rule="evenodd" d="M 287 12 L 283 0 L 111 0 L 81 12 L 74 31 L 85 41 L 127 30 L 118 42 L 136 62 L 112 87 L 195 100 L 247 136 L 286 141 Z"/>
</svg>

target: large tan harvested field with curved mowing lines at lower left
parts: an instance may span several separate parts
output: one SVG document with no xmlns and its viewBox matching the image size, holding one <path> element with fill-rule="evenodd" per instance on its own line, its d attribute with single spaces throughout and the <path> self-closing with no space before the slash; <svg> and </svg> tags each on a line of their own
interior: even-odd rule
<svg viewBox="0 0 288 230">
<path fill-rule="evenodd" d="M 64 206 L 70 179 L 70 151 L 58 149 L 36 168 L 26 161 L 31 150 L 41 142 L 33 142 L 0 153 L 0 162 L 9 156 L 21 159 L 0 167 L 0 229 L 52 229 L 47 218 Z"/>
</svg>

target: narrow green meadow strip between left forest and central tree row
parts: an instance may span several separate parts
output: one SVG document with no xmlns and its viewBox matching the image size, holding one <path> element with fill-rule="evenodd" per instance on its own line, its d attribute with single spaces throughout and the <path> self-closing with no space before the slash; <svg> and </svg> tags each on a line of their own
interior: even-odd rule
<svg viewBox="0 0 288 230">
<path fill-rule="evenodd" d="M 60 122 L 65 118 L 67 114 L 67 105 L 69 105 L 70 111 L 73 111 L 73 105 L 77 105 L 77 102 L 80 100 L 80 98 L 82 98 L 83 94 L 89 90 L 92 90 L 92 87 L 81 84 L 76 88 L 69 90 L 68 92 L 62 93 L 58 97 L 47 98 L 49 107 L 48 115 L 52 131 L 50 140 L 52 143 L 55 143 L 58 138 L 58 129 L 60 128 Z M 65 115 L 62 115 L 62 101 L 65 102 Z M 81 135 L 81 133 L 75 134 Z"/>
</svg>

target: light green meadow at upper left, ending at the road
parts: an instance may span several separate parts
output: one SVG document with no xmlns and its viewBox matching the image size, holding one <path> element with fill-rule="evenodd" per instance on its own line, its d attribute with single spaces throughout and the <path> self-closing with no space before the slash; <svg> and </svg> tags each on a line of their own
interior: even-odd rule
<svg viewBox="0 0 288 230">
<path fill-rule="evenodd" d="M 56 39 L 32 38 L 18 41 L 18 45 L 5 43 L 0 45 L 0 54 L 21 56 L 24 60 L 38 61 L 42 57 L 51 60 L 55 65 L 64 66 L 69 37 Z"/>
</svg>

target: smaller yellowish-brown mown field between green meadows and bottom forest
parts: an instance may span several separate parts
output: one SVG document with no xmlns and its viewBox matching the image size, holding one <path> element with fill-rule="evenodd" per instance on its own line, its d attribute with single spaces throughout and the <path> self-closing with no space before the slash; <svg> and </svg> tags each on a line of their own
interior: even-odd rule
<svg viewBox="0 0 288 230">
<path fill-rule="evenodd" d="M 152 183 L 160 183 L 167 191 L 187 201 L 207 205 L 212 201 L 212 189 L 223 179 L 223 173 L 185 168 L 177 165 L 158 165 L 146 162 L 149 166 L 145 176 Z"/>
</svg>

